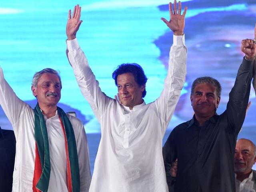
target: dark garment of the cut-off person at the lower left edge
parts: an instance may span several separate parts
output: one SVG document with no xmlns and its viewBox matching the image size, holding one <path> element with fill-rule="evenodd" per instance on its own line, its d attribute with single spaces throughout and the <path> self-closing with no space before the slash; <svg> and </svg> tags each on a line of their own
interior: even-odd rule
<svg viewBox="0 0 256 192">
<path fill-rule="evenodd" d="M 0 191 L 12 191 L 16 140 L 12 130 L 0 128 Z"/>
</svg>

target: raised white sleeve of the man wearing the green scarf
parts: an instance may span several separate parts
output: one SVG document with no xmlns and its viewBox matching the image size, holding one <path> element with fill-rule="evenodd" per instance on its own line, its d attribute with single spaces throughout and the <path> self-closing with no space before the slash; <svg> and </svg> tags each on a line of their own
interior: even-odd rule
<svg viewBox="0 0 256 192">
<path fill-rule="evenodd" d="M 27 106 L 25 102 L 20 100 L 10 85 L 4 79 L 2 68 L 0 67 L 0 105 L 4 110 L 7 118 L 11 122 L 14 133 L 17 135 L 17 124 L 20 120 L 20 114 L 24 111 Z"/>
</svg>

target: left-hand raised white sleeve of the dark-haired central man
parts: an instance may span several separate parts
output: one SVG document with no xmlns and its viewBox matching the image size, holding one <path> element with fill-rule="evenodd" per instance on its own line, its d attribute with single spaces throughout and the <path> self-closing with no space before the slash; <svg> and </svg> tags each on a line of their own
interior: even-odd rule
<svg viewBox="0 0 256 192">
<path fill-rule="evenodd" d="M 68 47 L 68 60 L 74 70 L 78 86 L 100 122 L 100 117 L 114 99 L 109 98 L 100 90 L 99 82 L 96 80 L 89 67 L 88 60 L 78 45 L 77 39 L 67 40 L 66 42 Z"/>
</svg>

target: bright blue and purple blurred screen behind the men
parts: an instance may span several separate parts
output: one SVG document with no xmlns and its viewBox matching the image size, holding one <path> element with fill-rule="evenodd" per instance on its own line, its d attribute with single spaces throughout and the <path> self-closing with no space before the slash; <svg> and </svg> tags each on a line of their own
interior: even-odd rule
<svg viewBox="0 0 256 192">
<path fill-rule="evenodd" d="M 43 68 L 60 71 L 62 97 L 59 106 L 76 112 L 82 120 L 90 148 L 90 166 L 100 141 L 100 124 L 83 98 L 66 58 L 66 22 L 68 10 L 82 6 L 83 20 L 77 38 L 88 57 L 100 87 L 113 97 L 117 88 L 112 79 L 116 66 L 136 62 L 148 77 L 146 103 L 160 95 L 168 68 L 172 32 L 160 20 L 169 20 L 168 1 L 164 0 L 8 0 L 0 5 L 0 66 L 16 95 L 34 107 L 32 76 Z M 217 110 L 226 109 L 228 94 L 243 58 L 241 40 L 254 38 L 255 0 L 186 0 L 188 6 L 185 37 L 188 48 L 186 83 L 176 111 L 166 131 L 192 118 L 190 88 L 199 76 L 212 76 L 222 84 Z M 256 99 L 251 89 L 250 106 L 238 138 L 256 143 Z M 0 126 L 12 125 L 0 108 Z M 254 169 L 256 167 L 254 166 Z"/>
</svg>

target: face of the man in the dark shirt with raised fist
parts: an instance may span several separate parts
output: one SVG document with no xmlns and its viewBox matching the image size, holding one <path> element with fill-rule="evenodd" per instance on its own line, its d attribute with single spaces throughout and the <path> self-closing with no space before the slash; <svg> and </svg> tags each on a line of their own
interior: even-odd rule
<svg viewBox="0 0 256 192">
<path fill-rule="evenodd" d="M 209 83 L 196 85 L 190 100 L 196 116 L 205 118 L 214 116 L 220 103 L 220 98 L 216 94 L 216 87 Z"/>
</svg>

